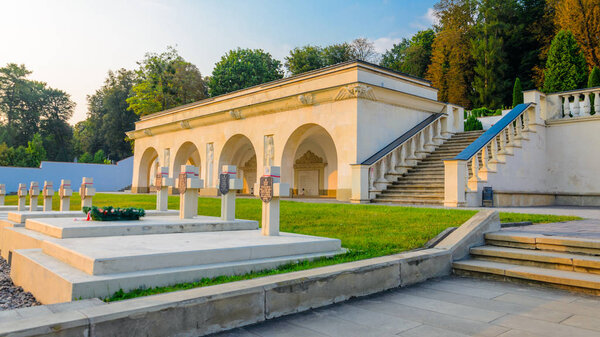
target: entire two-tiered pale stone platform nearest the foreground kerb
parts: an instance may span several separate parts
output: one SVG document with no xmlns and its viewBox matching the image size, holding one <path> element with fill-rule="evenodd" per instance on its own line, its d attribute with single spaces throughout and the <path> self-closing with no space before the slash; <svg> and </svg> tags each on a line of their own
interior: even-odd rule
<svg viewBox="0 0 600 337">
<path fill-rule="evenodd" d="M 13 252 L 13 282 L 44 304 L 329 257 L 340 240 L 258 230 L 56 239 Z M 44 280 L 44 282 L 40 282 Z"/>
</svg>

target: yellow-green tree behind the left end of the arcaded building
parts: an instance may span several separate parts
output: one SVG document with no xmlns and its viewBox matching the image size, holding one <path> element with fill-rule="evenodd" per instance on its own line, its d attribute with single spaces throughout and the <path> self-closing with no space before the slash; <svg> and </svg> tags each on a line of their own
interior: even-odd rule
<svg viewBox="0 0 600 337">
<path fill-rule="evenodd" d="M 127 98 L 129 109 L 139 116 L 192 103 L 207 97 L 198 68 L 185 61 L 173 47 L 162 54 L 147 53 L 138 62 L 137 83 Z"/>
</svg>

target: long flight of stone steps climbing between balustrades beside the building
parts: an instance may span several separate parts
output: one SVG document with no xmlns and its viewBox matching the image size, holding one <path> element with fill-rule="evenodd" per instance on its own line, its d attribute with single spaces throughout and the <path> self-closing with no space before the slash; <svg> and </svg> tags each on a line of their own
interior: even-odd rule
<svg viewBox="0 0 600 337">
<path fill-rule="evenodd" d="M 408 205 L 444 204 L 444 159 L 454 158 L 483 131 L 456 133 L 392 182 L 373 202 Z"/>
</svg>

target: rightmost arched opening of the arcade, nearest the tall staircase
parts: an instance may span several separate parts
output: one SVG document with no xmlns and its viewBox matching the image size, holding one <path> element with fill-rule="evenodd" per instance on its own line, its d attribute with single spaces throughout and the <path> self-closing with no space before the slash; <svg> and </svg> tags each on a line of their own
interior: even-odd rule
<svg viewBox="0 0 600 337">
<path fill-rule="evenodd" d="M 327 130 L 306 124 L 292 133 L 283 149 L 281 179 L 295 196 L 336 196 L 337 151 Z"/>
</svg>

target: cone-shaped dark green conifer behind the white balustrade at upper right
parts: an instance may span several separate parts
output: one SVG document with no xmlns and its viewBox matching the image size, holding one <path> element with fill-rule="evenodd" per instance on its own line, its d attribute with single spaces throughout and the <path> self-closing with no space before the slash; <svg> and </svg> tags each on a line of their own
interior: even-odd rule
<svg viewBox="0 0 600 337">
<path fill-rule="evenodd" d="M 568 30 L 561 30 L 552 40 L 544 72 L 544 92 L 582 88 L 587 77 L 585 57 Z"/>
</svg>

